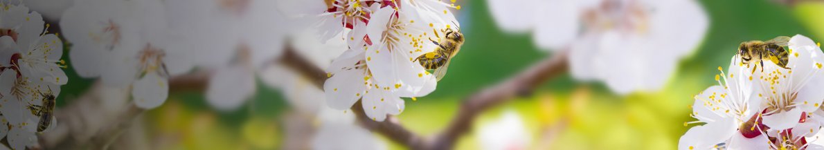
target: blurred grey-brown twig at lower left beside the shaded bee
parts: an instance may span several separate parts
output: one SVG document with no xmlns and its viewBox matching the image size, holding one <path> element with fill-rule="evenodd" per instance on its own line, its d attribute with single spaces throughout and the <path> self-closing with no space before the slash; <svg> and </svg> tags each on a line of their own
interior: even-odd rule
<svg viewBox="0 0 824 150">
<path fill-rule="evenodd" d="M 71 105 L 55 110 L 54 115 L 59 121 L 54 129 L 40 134 L 40 147 L 105 149 L 124 129 L 128 129 L 134 118 L 143 114 L 143 109 L 126 102 L 125 97 L 119 101 L 103 96 L 105 88 L 96 83 L 87 93 L 73 100 Z M 101 109 L 112 106 L 119 109 Z"/>
</svg>

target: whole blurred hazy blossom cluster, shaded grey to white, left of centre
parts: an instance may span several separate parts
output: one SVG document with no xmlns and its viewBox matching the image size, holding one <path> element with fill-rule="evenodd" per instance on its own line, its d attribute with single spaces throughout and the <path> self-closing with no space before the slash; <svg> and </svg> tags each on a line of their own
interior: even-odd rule
<svg viewBox="0 0 824 150">
<path fill-rule="evenodd" d="M 234 110 L 283 49 L 291 24 L 277 2 L 76 0 L 59 23 L 77 73 L 129 90 L 140 108 L 162 105 L 171 77 L 199 69 L 213 74 L 209 104 Z"/>
</svg>

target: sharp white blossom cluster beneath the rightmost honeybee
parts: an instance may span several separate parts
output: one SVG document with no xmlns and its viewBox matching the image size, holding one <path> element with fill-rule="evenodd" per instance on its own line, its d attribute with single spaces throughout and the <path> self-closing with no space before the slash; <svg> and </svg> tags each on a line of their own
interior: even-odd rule
<svg viewBox="0 0 824 150">
<path fill-rule="evenodd" d="M 695 96 L 679 149 L 822 149 L 824 53 L 803 35 L 789 40 L 786 68 L 763 59 L 745 64 L 733 56 L 727 72 Z M 756 68 L 757 65 L 757 68 Z"/>
</svg>

